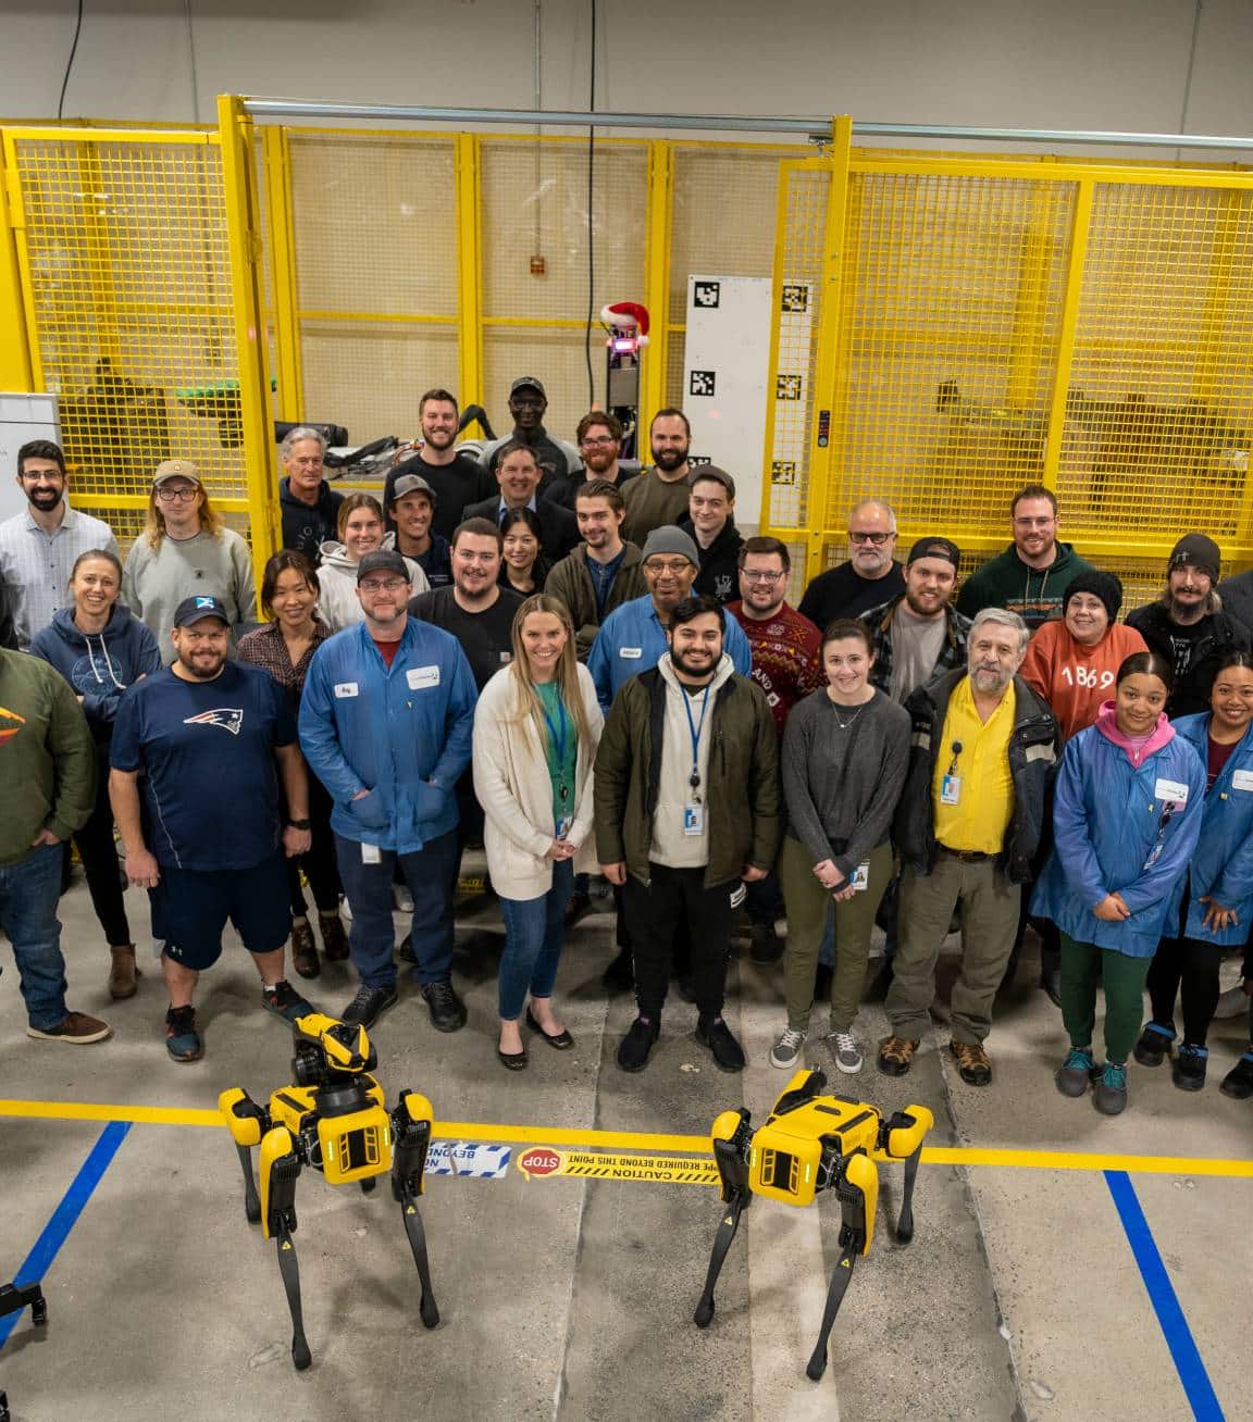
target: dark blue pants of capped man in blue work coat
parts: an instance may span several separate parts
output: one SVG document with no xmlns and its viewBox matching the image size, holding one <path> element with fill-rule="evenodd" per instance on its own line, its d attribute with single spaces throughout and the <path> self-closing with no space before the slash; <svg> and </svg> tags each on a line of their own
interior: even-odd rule
<svg viewBox="0 0 1253 1422">
<path fill-rule="evenodd" d="M 452 904 L 461 860 L 457 829 L 437 835 L 412 855 L 378 850 L 378 863 L 361 859 L 354 839 L 336 835 L 340 882 L 353 907 L 348 947 L 353 966 L 366 987 L 395 984 L 395 923 L 391 917 L 391 875 L 400 863 L 414 897 L 411 941 L 418 966 L 418 983 L 441 983 L 452 975 Z"/>
</svg>

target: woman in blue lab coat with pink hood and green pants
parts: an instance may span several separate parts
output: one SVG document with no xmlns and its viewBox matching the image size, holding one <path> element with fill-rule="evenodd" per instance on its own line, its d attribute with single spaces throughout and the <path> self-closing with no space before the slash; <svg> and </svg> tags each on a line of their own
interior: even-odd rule
<svg viewBox="0 0 1253 1422">
<path fill-rule="evenodd" d="M 1138 651 L 1115 700 L 1067 742 L 1052 808 L 1054 846 L 1031 900 L 1061 929 L 1061 1014 L 1071 1051 L 1058 1091 L 1107 1116 L 1126 1106 L 1126 1058 L 1141 1027 L 1145 975 L 1171 894 L 1196 849 L 1205 768 L 1165 705 L 1169 663 Z M 1105 1065 L 1092 1059 L 1097 978 L 1105 983 Z"/>
</svg>

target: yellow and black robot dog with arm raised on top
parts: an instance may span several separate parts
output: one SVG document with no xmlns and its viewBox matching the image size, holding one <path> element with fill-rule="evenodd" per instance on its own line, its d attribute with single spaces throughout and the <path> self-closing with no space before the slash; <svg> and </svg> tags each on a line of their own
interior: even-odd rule
<svg viewBox="0 0 1253 1422">
<path fill-rule="evenodd" d="M 218 1098 L 239 1162 L 243 1166 L 243 1209 L 260 1220 L 266 1239 L 277 1241 L 279 1270 L 292 1311 L 292 1361 L 297 1369 L 313 1361 L 304 1340 L 300 1307 L 300 1267 L 292 1234 L 296 1230 L 296 1182 L 302 1166 L 321 1172 L 331 1185 L 357 1180 L 364 1193 L 375 1177 L 391 1170 L 391 1194 L 401 1207 L 405 1234 L 422 1284 L 420 1314 L 427 1328 L 439 1322 L 431 1291 L 427 1236 L 418 1213 L 427 1150 L 431 1145 L 431 1102 L 402 1091 L 388 1112 L 383 1088 L 370 1075 L 378 1057 L 363 1027 L 321 1012 L 294 1024 L 297 1085 L 270 1096 L 269 1109 L 233 1086 Z M 252 1176 L 252 1148 L 260 1146 L 260 1199 Z"/>
</svg>

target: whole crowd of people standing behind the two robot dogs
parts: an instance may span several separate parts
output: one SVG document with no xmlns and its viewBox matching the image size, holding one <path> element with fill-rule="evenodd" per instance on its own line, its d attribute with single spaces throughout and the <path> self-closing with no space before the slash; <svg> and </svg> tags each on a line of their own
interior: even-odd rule
<svg viewBox="0 0 1253 1422">
<path fill-rule="evenodd" d="M 333 491 L 321 435 L 292 429 L 260 626 L 247 545 L 195 465 L 156 468 L 122 563 L 108 526 L 70 506 L 61 451 L 23 447 L 28 509 L 0 525 L 0 926 L 31 1035 L 110 1032 L 65 1005 L 55 900 L 71 838 L 108 990 L 137 991 L 117 826 L 127 877 L 149 890 L 178 1061 L 202 1055 L 193 993 L 228 921 L 266 1008 L 309 1010 L 289 954 L 303 978 L 351 958 L 340 1015 L 373 1025 L 398 997 L 397 894 L 412 906 L 400 957 L 432 1027 L 464 1027 L 457 880 L 482 843 L 511 1071 L 528 1065 L 523 1028 L 573 1045 L 553 994 L 599 872 L 617 909 L 606 984 L 637 1003 L 624 1071 L 647 1065 L 671 977 L 715 1065 L 742 1069 L 723 1015 L 742 910 L 752 958 L 782 958 L 779 1068 L 801 1061 L 828 991 L 833 1064 L 862 1068 L 856 1018 L 885 923 L 890 1035 L 875 1057 L 903 1075 L 956 914 L 963 1081 L 991 1081 L 994 1000 L 1030 920 L 1071 1041 L 1060 1091 L 1116 1113 L 1132 1055 L 1169 1055 L 1176 1085 L 1203 1085 L 1219 966 L 1253 912 L 1253 633 L 1239 616 L 1253 574 L 1220 583 L 1217 546 L 1189 533 L 1162 597 L 1119 623 L 1118 579 L 1058 540 L 1057 501 L 1031 485 L 1011 545 L 960 592 L 950 539 L 899 560 L 892 509 L 859 503 L 848 560 L 794 609 L 787 545 L 741 536 L 735 481 L 688 462 L 681 411 L 654 418 L 651 464 L 633 469 L 613 415 L 592 411 L 566 444 L 545 429 L 535 377 L 509 407 L 511 435 L 469 458 L 455 398 L 428 391 L 421 448 L 381 501 Z M 1253 1047 L 1223 1091 L 1253 1095 Z"/>
</svg>

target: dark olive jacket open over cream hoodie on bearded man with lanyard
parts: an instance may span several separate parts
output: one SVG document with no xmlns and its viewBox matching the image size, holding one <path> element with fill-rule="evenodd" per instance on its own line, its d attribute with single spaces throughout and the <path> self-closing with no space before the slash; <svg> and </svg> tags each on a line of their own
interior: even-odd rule
<svg viewBox="0 0 1253 1422">
<path fill-rule="evenodd" d="M 656 667 L 624 683 L 596 749 L 596 857 L 602 865 L 626 863 L 644 884 L 661 778 L 653 747 L 663 744 L 666 691 Z M 731 675 L 714 701 L 710 727 L 707 889 L 738 879 L 745 865 L 774 869 L 781 833 L 778 732 L 761 687 Z M 667 769 L 683 775 L 686 768 Z"/>
</svg>

